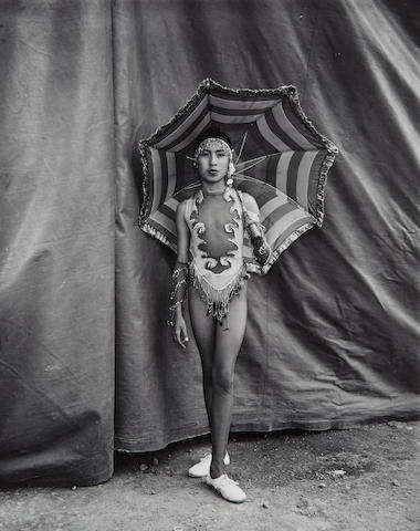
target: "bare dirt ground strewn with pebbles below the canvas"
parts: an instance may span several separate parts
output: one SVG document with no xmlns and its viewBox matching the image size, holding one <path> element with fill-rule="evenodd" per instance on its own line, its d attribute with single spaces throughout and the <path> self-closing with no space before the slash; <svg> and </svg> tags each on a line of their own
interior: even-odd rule
<svg viewBox="0 0 420 531">
<path fill-rule="evenodd" d="M 420 421 L 232 435 L 225 502 L 187 469 L 208 438 L 116 456 L 97 487 L 0 490 L 0 531 L 419 531 Z"/>
</svg>

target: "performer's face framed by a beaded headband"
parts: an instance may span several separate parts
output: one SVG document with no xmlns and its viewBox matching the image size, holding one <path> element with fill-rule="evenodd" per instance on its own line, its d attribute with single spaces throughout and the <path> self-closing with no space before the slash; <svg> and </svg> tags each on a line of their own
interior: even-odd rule
<svg viewBox="0 0 420 531">
<path fill-rule="evenodd" d="M 229 146 L 218 138 L 203 140 L 198 148 L 197 166 L 201 180 L 218 183 L 228 173 L 230 160 Z"/>
</svg>

